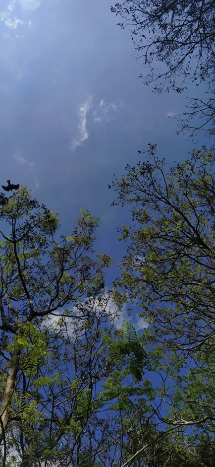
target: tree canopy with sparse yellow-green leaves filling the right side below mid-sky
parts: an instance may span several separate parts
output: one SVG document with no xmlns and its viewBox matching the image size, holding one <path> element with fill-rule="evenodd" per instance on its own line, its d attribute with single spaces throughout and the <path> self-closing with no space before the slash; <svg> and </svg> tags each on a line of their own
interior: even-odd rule
<svg viewBox="0 0 215 467">
<path fill-rule="evenodd" d="M 177 425 L 171 443 L 179 451 L 185 440 L 197 449 L 206 434 L 209 451 L 215 446 L 214 164 L 214 152 L 203 148 L 168 167 L 151 145 L 146 161 L 112 181 L 113 204 L 132 206 L 130 224 L 119 228 L 127 253 L 115 293 L 149 324 L 145 338 L 151 361 L 160 358 L 168 407 L 166 415 L 153 409 L 166 426 Z"/>
</svg>

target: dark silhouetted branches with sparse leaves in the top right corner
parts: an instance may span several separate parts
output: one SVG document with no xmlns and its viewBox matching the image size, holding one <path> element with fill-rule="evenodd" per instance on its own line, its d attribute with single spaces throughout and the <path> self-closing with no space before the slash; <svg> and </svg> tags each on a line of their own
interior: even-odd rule
<svg viewBox="0 0 215 467">
<path fill-rule="evenodd" d="M 188 99 L 176 119 L 179 132 L 193 136 L 206 130 L 214 135 L 215 1 L 123 0 L 111 11 L 121 16 L 121 28 L 130 28 L 136 57 L 148 68 L 140 77 L 145 84 L 153 83 L 155 92 L 181 93 L 187 78 L 197 86 L 206 83 L 209 97 Z"/>
</svg>

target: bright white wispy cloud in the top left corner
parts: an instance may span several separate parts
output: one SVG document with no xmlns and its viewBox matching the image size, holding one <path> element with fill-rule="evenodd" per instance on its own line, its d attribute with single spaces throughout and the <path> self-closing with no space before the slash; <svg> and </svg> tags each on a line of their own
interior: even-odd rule
<svg viewBox="0 0 215 467">
<path fill-rule="evenodd" d="M 0 13 L 0 21 L 2 21 L 6 27 L 11 29 L 17 29 L 17 26 L 24 26 L 27 24 L 31 25 L 31 20 L 24 21 L 23 19 L 17 18 L 15 14 L 16 5 L 19 5 L 23 10 L 36 10 L 40 6 L 41 0 L 11 0 L 5 11 Z"/>
</svg>

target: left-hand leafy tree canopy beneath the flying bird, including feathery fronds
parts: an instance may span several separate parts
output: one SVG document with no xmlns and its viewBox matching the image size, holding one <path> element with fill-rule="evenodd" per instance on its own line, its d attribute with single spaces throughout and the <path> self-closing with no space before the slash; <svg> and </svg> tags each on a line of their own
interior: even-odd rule
<svg viewBox="0 0 215 467">
<path fill-rule="evenodd" d="M 92 249 L 98 219 L 81 211 L 56 240 L 56 214 L 21 187 L 0 220 L 0 466 L 127 462 L 155 389 L 144 340 L 129 322 L 114 326 L 111 259 Z"/>
</svg>

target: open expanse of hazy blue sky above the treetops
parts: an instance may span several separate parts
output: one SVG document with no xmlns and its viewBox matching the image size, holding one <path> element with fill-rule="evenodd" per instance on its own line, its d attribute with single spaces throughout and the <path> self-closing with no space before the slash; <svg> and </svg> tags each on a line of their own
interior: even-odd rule
<svg viewBox="0 0 215 467">
<path fill-rule="evenodd" d="M 167 115 L 180 112 L 196 88 L 155 95 L 143 85 L 113 3 L 1 0 L 0 182 L 26 184 L 58 212 L 66 232 L 80 209 L 90 209 L 102 220 L 96 250 L 117 264 L 125 245 L 116 226 L 130 215 L 110 205 L 108 183 L 148 142 L 170 162 L 187 157 L 193 143 L 176 135 Z M 109 282 L 115 274 L 112 268 Z"/>
</svg>

